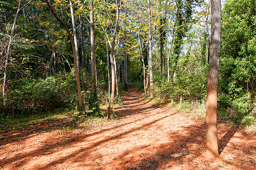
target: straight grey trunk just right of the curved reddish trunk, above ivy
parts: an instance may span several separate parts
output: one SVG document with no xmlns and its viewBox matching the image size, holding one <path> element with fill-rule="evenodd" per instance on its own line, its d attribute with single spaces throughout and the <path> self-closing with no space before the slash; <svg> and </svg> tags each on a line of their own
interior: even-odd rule
<svg viewBox="0 0 256 170">
<path fill-rule="evenodd" d="M 90 1 L 90 8 L 94 8 L 93 0 Z M 92 70 L 92 95 L 96 92 L 96 60 L 95 60 L 95 35 L 94 35 L 94 10 L 90 11 L 91 30 L 91 70 Z M 93 96 L 96 97 L 96 96 Z"/>
</svg>

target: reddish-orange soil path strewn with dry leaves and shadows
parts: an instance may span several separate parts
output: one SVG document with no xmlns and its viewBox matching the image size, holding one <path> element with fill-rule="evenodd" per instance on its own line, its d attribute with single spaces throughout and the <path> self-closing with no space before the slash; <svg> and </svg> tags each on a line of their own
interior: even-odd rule
<svg viewBox="0 0 256 170">
<path fill-rule="evenodd" d="M 70 117 L 0 136 L 0 169 L 256 169 L 256 135 L 218 123 L 220 158 L 207 159 L 205 121 L 129 89 L 119 120 L 68 128 Z"/>
</svg>

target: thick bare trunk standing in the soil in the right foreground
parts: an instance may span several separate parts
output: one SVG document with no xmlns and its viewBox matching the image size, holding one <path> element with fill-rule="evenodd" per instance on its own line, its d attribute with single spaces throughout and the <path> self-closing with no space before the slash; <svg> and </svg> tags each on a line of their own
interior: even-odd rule
<svg viewBox="0 0 256 170">
<path fill-rule="evenodd" d="M 221 50 L 221 0 L 211 1 L 211 47 L 206 97 L 206 156 L 219 157 L 217 135 L 217 95 Z"/>
</svg>

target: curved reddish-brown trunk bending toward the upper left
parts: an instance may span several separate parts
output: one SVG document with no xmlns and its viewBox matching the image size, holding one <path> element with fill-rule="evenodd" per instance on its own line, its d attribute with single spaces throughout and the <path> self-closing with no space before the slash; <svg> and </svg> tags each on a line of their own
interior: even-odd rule
<svg viewBox="0 0 256 170">
<path fill-rule="evenodd" d="M 71 41 L 72 44 L 72 49 L 73 49 L 73 55 L 74 55 L 74 63 L 76 62 L 76 51 L 75 51 L 75 43 L 73 41 L 72 35 L 67 27 L 67 25 L 65 23 L 63 23 L 63 21 L 61 19 L 59 19 L 59 17 L 56 15 L 56 13 L 54 12 L 52 6 L 50 5 L 49 0 L 45 0 L 48 8 L 51 10 L 51 12 L 53 13 L 54 17 L 60 22 L 60 24 L 65 28 L 65 30 L 67 31 L 68 35 L 69 35 L 69 39 Z M 78 92 L 78 100 L 79 100 L 79 109 L 83 109 L 82 108 L 82 96 L 81 96 L 81 88 L 80 88 L 80 79 L 79 79 L 79 73 L 78 73 L 78 67 L 77 64 L 75 64 L 75 75 L 76 75 L 76 83 L 77 83 L 77 92 Z"/>
</svg>

